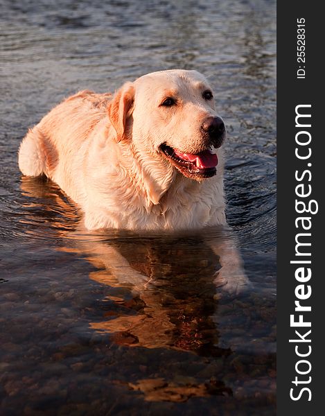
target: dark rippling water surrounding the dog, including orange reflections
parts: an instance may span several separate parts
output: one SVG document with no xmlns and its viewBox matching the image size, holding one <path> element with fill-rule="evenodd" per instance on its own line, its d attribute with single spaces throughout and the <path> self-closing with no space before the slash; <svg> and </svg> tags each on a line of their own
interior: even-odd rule
<svg viewBox="0 0 325 416">
<path fill-rule="evenodd" d="M 1 415 L 274 415 L 275 2 L 0 6 Z M 64 96 L 172 68 L 216 90 L 233 232 L 80 233 L 21 178 L 21 138 Z M 252 288 L 220 296 L 211 242 L 235 238 Z"/>
</svg>

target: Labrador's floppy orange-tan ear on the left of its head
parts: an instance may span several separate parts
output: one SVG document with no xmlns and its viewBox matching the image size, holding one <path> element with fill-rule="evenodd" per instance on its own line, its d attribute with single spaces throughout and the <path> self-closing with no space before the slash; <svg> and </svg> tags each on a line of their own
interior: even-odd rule
<svg viewBox="0 0 325 416">
<path fill-rule="evenodd" d="M 125 135 L 125 125 L 132 112 L 134 101 L 134 86 L 132 83 L 125 83 L 114 94 L 109 103 L 107 111 L 109 120 L 116 131 L 116 141 L 121 141 Z"/>
</svg>

